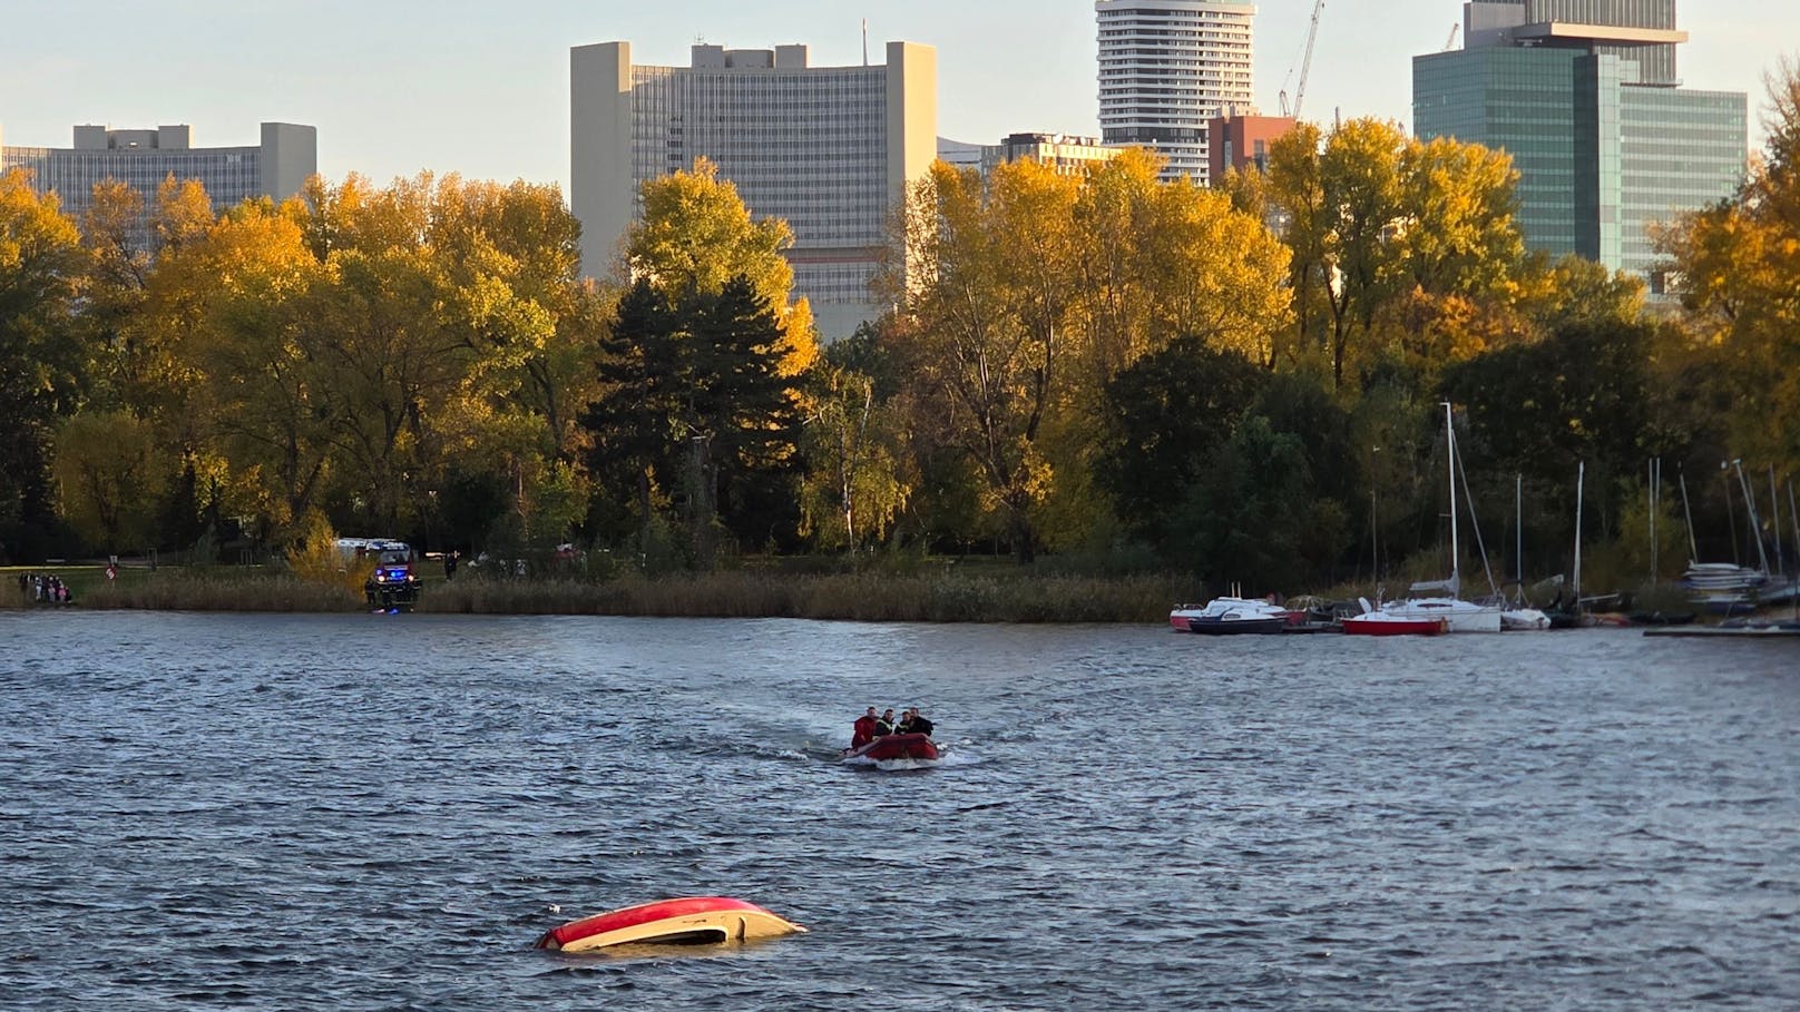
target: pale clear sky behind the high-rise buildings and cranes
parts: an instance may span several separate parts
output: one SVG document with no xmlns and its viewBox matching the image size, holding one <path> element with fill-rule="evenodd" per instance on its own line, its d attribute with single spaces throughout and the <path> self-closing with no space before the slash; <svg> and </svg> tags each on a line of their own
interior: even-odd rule
<svg viewBox="0 0 1800 1012">
<path fill-rule="evenodd" d="M 1800 4 L 1685 0 L 1690 88 L 1750 94 L 1800 54 Z M 1312 0 L 1262 0 L 1256 101 L 1294 90 Z M 938 47 L 938 133 L 1098 135 L 1089 0 L 0 0 L 0 139 L 70 146 L 99 122 L 193 126 L 196 146 L 257 142 L 263 121 L 319 128 L 319 171 L 378 184 L 423 169 L 569 184 L 569 47 L 626 40 L 637 63 L 688 65 L 695 41 L 801 41 L 812 63 Z M 1460 0 L 1328 0 L 1303 113 L 1411 122 L 1411 56 L 1438 52 Z"/>
</svg>

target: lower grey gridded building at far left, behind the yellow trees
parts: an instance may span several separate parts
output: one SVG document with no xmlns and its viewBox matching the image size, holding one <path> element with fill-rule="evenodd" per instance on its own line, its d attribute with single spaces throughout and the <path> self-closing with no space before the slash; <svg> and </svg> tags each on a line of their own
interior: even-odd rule
<svg viewBox="0 0 1800 1012">
<path fill-rule="evenodd" d="M 56 193 L 63 212 L 81 218 L 94 203 L 94 185 L 117 180 L 144 196 L 146 212 L 157 187 L 171 175 L 207 187 L 214 211 L 252 196 L 286 200 L 319 171 L 319 131 L 292 122 L 265 122 L 261 144 L 194 148 L 185 124 L 155 130 L 76 126 L 72 148 L 0 148 L 0 171 L 23 167 L 38 193 Z M 137 234 L 148 241 L 148 230 Z"/>
</svg>

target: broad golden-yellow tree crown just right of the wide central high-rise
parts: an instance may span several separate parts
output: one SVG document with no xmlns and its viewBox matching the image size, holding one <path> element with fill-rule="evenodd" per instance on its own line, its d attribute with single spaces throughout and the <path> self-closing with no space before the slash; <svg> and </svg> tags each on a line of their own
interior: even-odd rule
<svg viewBox="0 0 1800 1012">
<path fill-rule="evenodd" d="M 1021 562 L 1057 490 L 1055 544 L 1103 526 L 1080 420 L 1107 378 L 1181 335 L 1269 364 L 1287 328 L 1280 239 L 1224 193 L 1157 182 L 1159 167 L 1143 151 L 1085 176 L 938 164 L 902 209 L 882 286 L 916 344 L 916 411 L 950 420 Z"/>
</svg>

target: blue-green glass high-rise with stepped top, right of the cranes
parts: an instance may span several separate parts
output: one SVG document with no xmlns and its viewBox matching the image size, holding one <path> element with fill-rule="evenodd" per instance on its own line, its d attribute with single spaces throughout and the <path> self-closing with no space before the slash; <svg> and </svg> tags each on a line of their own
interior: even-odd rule
<svg viewBox="0 0 1800 1012">
<path fill-rule="evenodd" d="M 1681 86 L 1676 0 L 1463 4 L 1463 49 L 1413 58 L 1418 137 L 1505 149 L 1526 243 L 1660 285 L 1651 227 L 1730 196 L 1742 92 Z"/>
</svg>

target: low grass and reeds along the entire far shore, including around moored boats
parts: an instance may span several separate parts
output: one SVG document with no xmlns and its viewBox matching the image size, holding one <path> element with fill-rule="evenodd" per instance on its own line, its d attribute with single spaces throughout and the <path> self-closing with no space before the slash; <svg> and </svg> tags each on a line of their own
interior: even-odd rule
<svg viewBox="0 0 1800 1012">
<path fill-rule="evenodd" d="M 20 574 L 45 573 L 72 591 L 70 605 L 34 603 L 14 587 Z M 1391 578 L 1384 583 L 1391 583 Z M 1406 585 L 1402 580 L 1400 585 Z M 841 571 L 792 571 L 751 565 L 715 573 L 626 573 L 621 576 L 495 576 L 464 573 L 455 580 L 428 576 L 416 614 L 464 616 L 612 616 L 749 619 L 796 618 L 869 623 L 970 625 L 1165 625 L 1181 601 L 1206 601 L 1228 592 L 1177 573 L 1021 571 L 985 560 L 913 560 L 909 565 L 866 565 Z M 1375 600 L 1377 589 L 1341 583 L 1321 600 Z M 1696 610 L 1678 583 L 1658 582 L 1602 594 L 1616 612 Z M 1543 601 L 1537 601 L 1539 605 Z M 297 573 L 284 565 L 128 564 L 106 578 L 103 564 L 0 567 L 0 612 L 167 610 L 243 614 L 362 614 L 371 610 L 362 573 Z M 1602 609 L 1607 610 L 1607 609 Z M 1789 614 L 1787 605 L 1755 607 L 1742 616 Z M 1800 612 L 1795 612 L 1800 614 Z M 1712 621 L 1724 616 L 1708 616 Z"/>
</svg>

